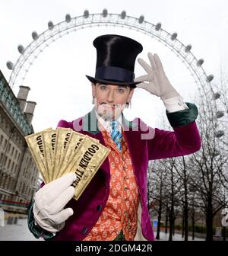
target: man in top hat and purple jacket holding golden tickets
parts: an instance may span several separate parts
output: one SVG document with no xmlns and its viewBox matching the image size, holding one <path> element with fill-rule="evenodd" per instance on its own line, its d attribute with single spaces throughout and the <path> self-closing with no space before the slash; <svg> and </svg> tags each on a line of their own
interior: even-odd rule
<svg viewBox="0 0 228 256">
<path fill-rule="evenodd" d="M 44 185 L 30 208 L 29 229 L 36 238 L 54 240 L 153 241 L 147 207 L 148 162 L 200 149 L 198 109 L 185 103 L 170 84 L 157 54 L 148 53 L 150 65 L 138 59 L 147 75 L 135 78 L 141 43 L 107 34 L 97 37 L 93 46 L 96 73 L 87 78 L 95 107 L 74 121 L 60 120 L 58 126 L 99 139 L 111 152 L 79 200 L 72 199 L 74 173 Z M 125 119 L 122 110 L 136 87 L 160 97 L 173 131 L 151 128 L 139 118 Z"/>
</svg>

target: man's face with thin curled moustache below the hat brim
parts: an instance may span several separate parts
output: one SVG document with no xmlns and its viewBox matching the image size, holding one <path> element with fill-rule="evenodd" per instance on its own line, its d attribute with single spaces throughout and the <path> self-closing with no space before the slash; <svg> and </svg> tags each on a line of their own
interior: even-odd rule
<svg viewBox="0 0 228 256">
<path fill-rule="evenodd" d="M 93 98 L 97 114 L 104 120 L 114 120 L 119 117 L 126 103 L 131 101 L 134 89 L 125 85 L 92 84 Z"/>
</svg>

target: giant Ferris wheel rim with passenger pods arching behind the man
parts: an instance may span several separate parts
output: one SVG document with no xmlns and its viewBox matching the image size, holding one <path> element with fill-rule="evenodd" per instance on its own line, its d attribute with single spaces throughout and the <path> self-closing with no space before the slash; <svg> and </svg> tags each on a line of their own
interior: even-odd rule
<svg viewBox="0 0 228 256">
<path fill-rule="evenodd" d="M 198 88 L 200 97 L 209 98 L 211 102 L 211 110 L 217 110 L 216 100 L 220 98 L 220 94 L 214 91 L 212 80 L 213 75 L 207 75 L 203 69 L 204 59 L 198 59 L 192 53 L 192 45 L 184 45 L 179 39 L 176 32 L 169 33 L 162 28 L 161 23 L 152 24 L 144 20 L 144 15 L 139 18 L 131 17 L 122 11 L 120 14 L 111 14 L 104 9 L 101 13 L 90 14 L 85 10 L 84 14 L 78 17 L 71 18 L 70 14 L 65 15 L 65 20 L 58 24 L 53 24 L 49 21 L 47 30 L 41 34 L 36 31 L 32 32 L 32 42 L 26 47 L 19 45 L 17 50 L 21 54 L 16 62 L 7 62 L 8 69 L 11 69 L 9 85 L 11 88 L 17 88 L 19 85 L 24 85 L 27 75 L 36 59 L 40 59 L 40 55 L 45 52 L 46 48 L 52 43 L 59 41 L 69 35 L 77 35 L 84 30 L 87 35 L 93 34 L 95 27 L 102 30 L 121 31 L 122 34 L 127 34 L 127 30 L 131 30 L 133 34 L 139 34 L 137 38 L 147 38 L 150 42 L 157 42 L 166 47 L 166 50 L 172 55 L 173 59 L 179 59 L 182 67 L 185 67 L 188 72 L 188 79 Z M 112 28 L 112 30 L 111 30 Z M 88 33 L 88 31 L 90 33 Z M 92 32 L 91 32 L 92 31 Z M 107 33 L 108 34 L 108 33 Z M 111 33 L 109 33 L 111 34 Z M 112 33 L 113 34 L 113 33 Z M 77 41 L 77 40 L 76 40 Z M 82 45 L 86 43 L 82 40 Z M 90 47 L 92 48 L 92 47 Z M 81 50 L 79 50 L 80 52 Z M 84 51 L 86 51 L 84 49 Z M 80 60 L 80 58 L 79 58 Z M 54 62 L 60 61 L 56 56 Z M 94 67 L 94 66 L 93 66 Z M 86 73 L 84 73 L 85 75 Z M 57 75 L 57 74 L 56 74 Z M 79 97 L 80 98 L 80 97 Z M 38 102 L 39 104 L 39 102 Z M 220 113 L 221 116 L 221 113 Z"/>
</svg>

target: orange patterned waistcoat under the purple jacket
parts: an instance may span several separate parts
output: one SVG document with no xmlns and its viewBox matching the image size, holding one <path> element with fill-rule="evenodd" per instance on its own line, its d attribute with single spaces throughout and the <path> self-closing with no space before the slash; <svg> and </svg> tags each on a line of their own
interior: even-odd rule
<svg viewBox="0 0 228 256">
<path fill-rule="evenodd" d="M 122 131 L 122 152 L 106 130 L 101 130 L 109 153 L 110 190 L 106 206 L 84 241 L 112 241 L 123 231 L 127 241 L 137 232 L 138 187 L 131 164 L 125 134 Z"/>
</svg>

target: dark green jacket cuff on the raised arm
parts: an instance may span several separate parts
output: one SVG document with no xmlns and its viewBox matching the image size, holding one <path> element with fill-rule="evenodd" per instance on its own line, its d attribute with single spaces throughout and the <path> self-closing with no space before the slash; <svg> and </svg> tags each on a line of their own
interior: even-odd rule
<svg viewBox="0 0 228 256">
<path fill-rule="evenodd" d="M 179 110 L 176 112 L 169 113 L 166 110 L 166 116 L 169 120 L 171 126 L 185 126 L 189 123 L 192 123 L 198 117 L 198 108 L 195 104 L 186 102 L 188 109 Z"/>
</svg>

